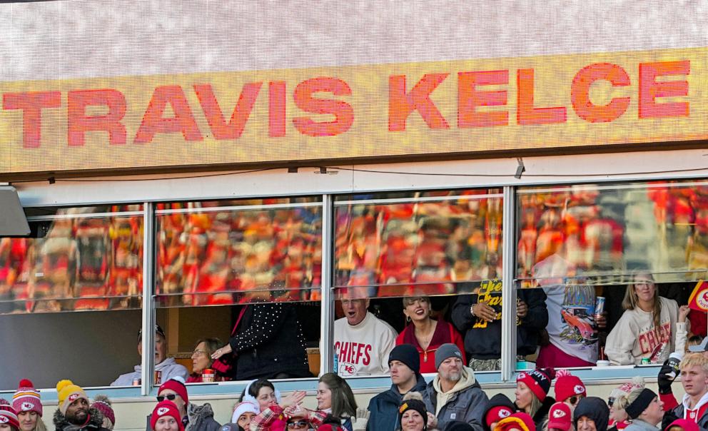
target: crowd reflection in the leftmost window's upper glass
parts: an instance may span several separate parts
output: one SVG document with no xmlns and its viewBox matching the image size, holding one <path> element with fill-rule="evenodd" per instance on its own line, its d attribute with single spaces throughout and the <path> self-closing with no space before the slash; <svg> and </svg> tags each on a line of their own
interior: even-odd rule
<svg viewBox="0 0 708 431">
<path fill-rule="evenodd" d="M 61 208 L 39 238 L 0 238 L 0 313 L 140 308 L 141 206 Z M 93 214 L 92 214 L 93 213 Z"/>
</svg>

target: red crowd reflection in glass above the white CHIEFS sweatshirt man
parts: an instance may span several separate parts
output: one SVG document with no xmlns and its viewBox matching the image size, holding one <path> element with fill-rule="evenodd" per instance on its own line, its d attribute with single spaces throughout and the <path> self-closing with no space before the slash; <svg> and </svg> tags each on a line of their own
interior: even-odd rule
<svg viewBox="0 0 708 431">
<path fill-rule="evenodd" d="M 438 191 L 335 203 L 335 286 L 349 297 L 444 295 L 501 273 L 502 198 Z"/>
</svg>

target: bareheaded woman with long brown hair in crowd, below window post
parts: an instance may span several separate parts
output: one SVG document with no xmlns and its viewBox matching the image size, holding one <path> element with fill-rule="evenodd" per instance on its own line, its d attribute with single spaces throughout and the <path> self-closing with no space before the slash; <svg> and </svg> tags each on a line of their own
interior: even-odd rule
<svg viewBox="0 0 708 431">
<path fill-rule="evenodd" d="M 333 372 L 320 377 L 317 386 L 317 410 L 339 417 L 340 425 L 352 431 L 352 420 L 356 416 L 356 400 L 346 380 Z"/>
</svg>

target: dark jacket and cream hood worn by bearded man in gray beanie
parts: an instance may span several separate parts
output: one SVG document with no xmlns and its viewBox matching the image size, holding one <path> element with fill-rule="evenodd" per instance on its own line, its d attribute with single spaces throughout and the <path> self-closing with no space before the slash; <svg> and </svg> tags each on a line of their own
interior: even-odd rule
<svg viewBox="0 0 708 431">
<path fill-rule="evenodd" d="M 460 374 L 460 380 L 447 392 L 442 392 L 440 375 L 436 375 L 423 392 L 425 407 L 438 417 L 438 427 L 441 430 L 447 422 L 461 420 L 472 425 L 475 430 L 482 431 L 489 399 L 475 379 L 472 368 L 463 366 Z"/>
</svg>

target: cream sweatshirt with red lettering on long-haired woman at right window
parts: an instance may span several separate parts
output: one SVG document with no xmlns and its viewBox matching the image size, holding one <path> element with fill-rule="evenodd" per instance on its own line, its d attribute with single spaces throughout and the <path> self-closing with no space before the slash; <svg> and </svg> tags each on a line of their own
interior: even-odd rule
<svg viewBox="0 0 708 431">
<path fill-rule="evenodd" d="M 654 328 L 654 313 L 641 310 L 626 310 L 617 325 L 607 335 L 605 353 L 616 365 L 638 365 L 642 358 L 663 363 L 674 350 L 683 351 L 686 343 L 687 324 L 677 323 L 679 306 L 676 301 L 659 297 L 662 313 L 659 328 Z M 662 348 L 662 344 L 668 344 Z M 652 357 L 653 355 L 653 357 Z"/>
</svg>

